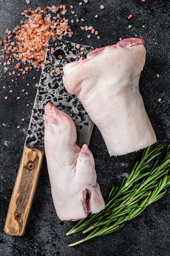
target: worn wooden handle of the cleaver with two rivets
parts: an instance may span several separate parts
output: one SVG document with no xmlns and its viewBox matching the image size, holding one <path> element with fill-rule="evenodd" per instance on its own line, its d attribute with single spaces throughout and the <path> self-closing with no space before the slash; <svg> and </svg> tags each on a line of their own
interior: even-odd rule
<svg viewBox="0 0 170 256">
<path fill-rule="evenodd" d="M 24 146 L 4 226 L 9 235 L 22 236 L 25 232 L 43 156 L 43 150 Z"/>
</svg>

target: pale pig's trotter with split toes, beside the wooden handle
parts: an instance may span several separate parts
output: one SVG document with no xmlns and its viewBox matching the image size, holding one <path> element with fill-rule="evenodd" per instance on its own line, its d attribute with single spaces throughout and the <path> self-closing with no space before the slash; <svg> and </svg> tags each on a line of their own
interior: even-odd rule
<svg viewBox="0 0 170 256">
<path fill-rule="evenodd" d="M 95 162 L 88 146 L 76 145 L 75 123 L 53 104 L 45 106 L 44 146 L 51 194 L 60 220 L 79 220 L 104 209 Z"/>
</svg>

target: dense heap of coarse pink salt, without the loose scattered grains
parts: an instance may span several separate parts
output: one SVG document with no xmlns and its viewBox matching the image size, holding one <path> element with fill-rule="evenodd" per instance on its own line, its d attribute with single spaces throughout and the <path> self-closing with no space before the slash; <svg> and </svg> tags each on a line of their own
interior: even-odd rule
<svg viewBox="0 0 170 256">
<path fill-rule="evenodd" d="M 33 67 L 42 68 L 49 38 L 62 39 L 67 33 L 69 37 L 73 34 L 68 20 L 61 17 L 66 11 L 65 5 L 24 10 L 21 14 L 27 19 L 20 21 L 21 26 L 15 27 L 13 32 L 6 30 L 3 53 L 8 55 L 7 60 L 11 61 L 15 57 L 18 61 L 28 62 Z M 12 41 L 13 38 L 15 41 Z"/>
</svg>

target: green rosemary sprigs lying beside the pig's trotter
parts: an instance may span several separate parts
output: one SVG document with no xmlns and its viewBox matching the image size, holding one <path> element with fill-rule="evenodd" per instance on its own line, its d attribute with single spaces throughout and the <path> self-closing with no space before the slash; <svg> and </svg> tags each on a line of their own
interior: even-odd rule
<svg viewBox="0 0 170 256">
<path fill-rule="evenodd" d="M 124 178 L 120 188 L 112 187 L 105 201 L 104 210 L 95 214 L 89 213 L 87 218 L 79 220 L 66 234 L 90 232 L 84 239 L 68 246 L 121 228 L 126 221 L 138 216 L 148 205 L 166 193 L 166 188 L 170 185 L 170 145 L 161 163 L 157 160 L 150 171 L 143 172 L 149 167 L 151 160 L 161 153 L 163 146 L 159 146 L 158 143 L 159 141 L 144 149 L 141 160 L 135 164 L 126 181 Z"/>
</svg>

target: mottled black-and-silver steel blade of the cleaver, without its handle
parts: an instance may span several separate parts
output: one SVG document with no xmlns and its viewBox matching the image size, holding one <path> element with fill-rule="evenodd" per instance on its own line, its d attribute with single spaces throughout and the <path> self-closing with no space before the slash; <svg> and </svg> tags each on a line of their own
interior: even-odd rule
<svg viewBox="0 0 170 256">
<path fill-rule="evenodd" d="M 66 112 L 77 128 L 77 144 L 89 144 L 93 122 L 75 95 L 69 94 L 62 82 L 65 63 L 85 57 L 93 47 L 77 45 L 65 40 L 51 38 L 47 45 L 46 58 L 38 86 L 25 145 L 44 150 L 43 113 L 46 103 L 51 102 Z M 76 57 L 77 56 L 77 57 Z"/>
</svg>

